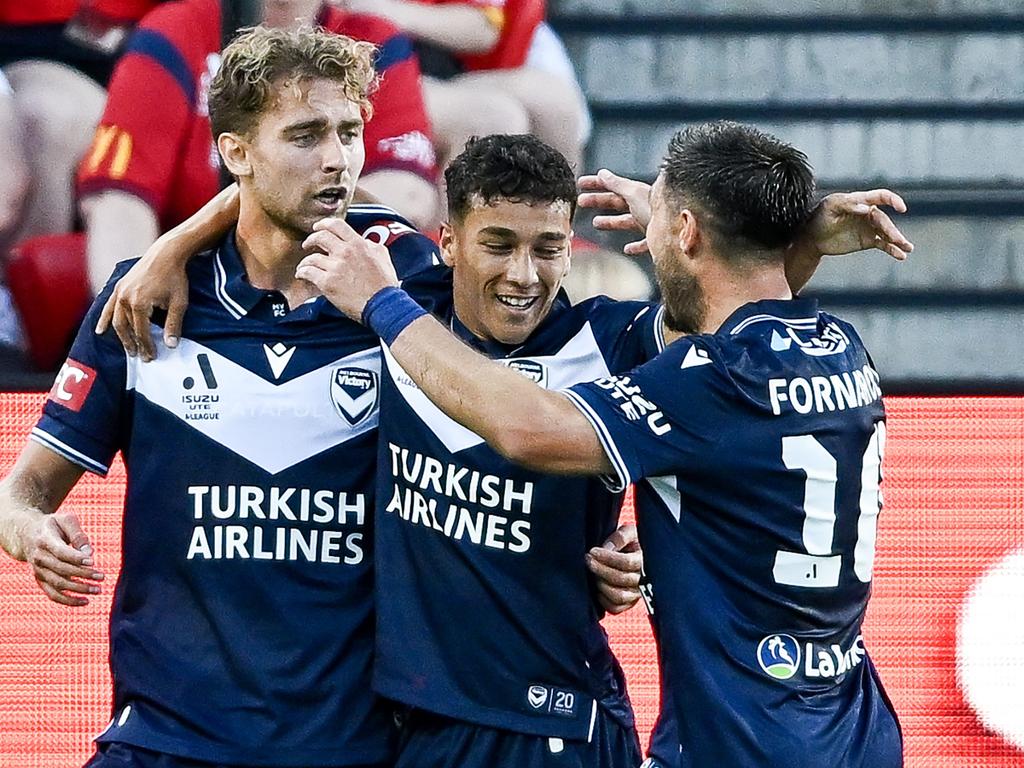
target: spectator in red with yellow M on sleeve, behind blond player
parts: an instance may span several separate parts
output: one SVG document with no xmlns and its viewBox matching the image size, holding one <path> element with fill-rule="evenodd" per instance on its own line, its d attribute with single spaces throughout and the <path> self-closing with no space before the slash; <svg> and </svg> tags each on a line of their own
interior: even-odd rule
<svg viewBox="0 0 1024 768">
<path fill-rule="evenodd" d="M 409 38 L 383 19 L 321 0 L 265 0 L 263 17 L 273 27 L 315 22 L 379 46 L 382 78 L 371 99 L 359 186 L 420 226 L 436 223 L 434 154 Z M 144 251 L 217 191 L 206 89 L 219 66 L 220 41 L 217 0 L 168 3 L 129 40 L 79 171 L 93 291 L 115 263 Z"/>
</svg>

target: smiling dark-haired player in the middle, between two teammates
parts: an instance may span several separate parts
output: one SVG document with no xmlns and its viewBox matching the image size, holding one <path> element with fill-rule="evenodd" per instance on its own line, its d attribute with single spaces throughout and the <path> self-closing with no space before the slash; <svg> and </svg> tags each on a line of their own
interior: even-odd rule
<svg viewBox="0 0 1024 768">
<path fill-rule="evenodd" d="M 555 150 L 474 139 L 445 180 L 447 268 L 406 287 L 465 344 L 553 388 L 656 353 L 656 307 L 560 290 L 577 186 Z M 377 490 L 374 684 L 413 708 L 397 766 L 639 765 L 586 562 L 621 496 L 511 464 L 386 355 Z"/>
</svg>

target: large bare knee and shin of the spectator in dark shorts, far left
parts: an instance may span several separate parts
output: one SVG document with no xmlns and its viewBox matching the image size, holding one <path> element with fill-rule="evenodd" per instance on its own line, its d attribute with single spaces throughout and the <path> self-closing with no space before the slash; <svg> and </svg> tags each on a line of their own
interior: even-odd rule
<svg viewBox="0 0 1024 768">
<path fill-rule="evenodd" d="M 5 72 L 32 179 L 18 237 L 69 231 L 75 221 L 75 171 L 92 141 L 106 92 L 53 61 L 17 61 Z"/>
</svg>

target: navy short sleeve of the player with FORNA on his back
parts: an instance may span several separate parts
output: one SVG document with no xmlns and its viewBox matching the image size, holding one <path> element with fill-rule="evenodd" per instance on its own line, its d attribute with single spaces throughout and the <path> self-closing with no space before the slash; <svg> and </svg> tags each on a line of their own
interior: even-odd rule
<svg viewBox="0 0 1024 768">
<path fill-rule="evenodd" d="M 680 340 L 628 374 L 563 390 L 608 456 L 612 490 L 642 477 L 679 474 L 714 449 L 728 373 L 703 339 Z"/>
</svg>

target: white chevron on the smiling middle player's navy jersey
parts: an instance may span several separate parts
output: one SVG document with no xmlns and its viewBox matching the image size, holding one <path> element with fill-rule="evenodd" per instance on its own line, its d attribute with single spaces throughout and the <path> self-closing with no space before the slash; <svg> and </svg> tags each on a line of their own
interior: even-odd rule
<svg viewBox="0 0 1024 768">
<path fill-rule="evenodd" d="M 391 355 L 390 350 L 386 346 L 383 349 L 387 375 L 391 377 L 406 402 L 437 435 L 449 451 L 455 454 L 483 442 L 483 438 L 476 432 L 466 429 L 432 403 L 413 383 L 413 380 Z M 518 364 L 523 362 L 543 366 L 547 371 L 547 375 L 543 379 L 545 386 L 555 390 L 610 375 L 604 355 L 601 354 L 601 349 L 597 345 L 597 339 L 594 338 L 594 331 L 591 329 L 590 323 L 586 323 L 580 332 L 555 354 L 510 357 L 497 361 L 510 365 L 513 368 L 518 368 Z M 535 378 L 535 381 L 540 381 L 540 379 Z M 503 408 L 505 406 L 504 403 L 496 403 L 495 407 Z"/>
</svg>

